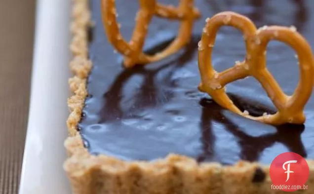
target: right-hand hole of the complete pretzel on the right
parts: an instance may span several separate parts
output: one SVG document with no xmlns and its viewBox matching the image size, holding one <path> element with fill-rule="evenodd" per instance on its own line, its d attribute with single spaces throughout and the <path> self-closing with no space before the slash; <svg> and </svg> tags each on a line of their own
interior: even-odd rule
<svg viewBox="0 0 314 194">
<path fill-rule="evenodd" d="M 267 46 L 266 66 L 286 95 L 292 95 L 300 78 L 299 60 L 291 47 L 280 41 Z"/>
</svg>

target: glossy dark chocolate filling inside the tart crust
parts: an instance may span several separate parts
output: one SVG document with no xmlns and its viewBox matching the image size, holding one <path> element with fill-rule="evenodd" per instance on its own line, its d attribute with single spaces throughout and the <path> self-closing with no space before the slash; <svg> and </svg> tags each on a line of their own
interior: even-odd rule
<svg viewBox="0 0 314 194">
<path fill-rule="evenodd" d="M 177 5 L 178 0 L 159 0 Z M 232 164 L 239 159 L 271 163 L 276 155 L 295 152 L 314 158 L 314 95 L 309 100 L 304 125 L 271 126 L 222 109 L 197 90 L 197 42 L 205 18 L 220 11 L 236 11 L 257 25 L 294 25 L 314 47 L 312 0 L 196 0 L 202 18 L 194 37 L 179 53 L 146 67 L 123 69 L 122 57 L 107 41 L 100 15 L 100 0 L 92 0 L 96 22 L 90 41 L 93 69 L 88 78 L 79 130 L 92 154 L 124 160 L 154 160 L 169 153 L 188 155 L 198 161 Z M 125 39 L 133 27 L 137 0 L 117 0 L 118 20 Z M 176 36 L 178 21 L 154 17 L 145 51 L 155 53 Z M 217 35 L 213 66 L 231 67 L 245 54 L 242 34 L 223 27 Z M 273 41 L 267 52 L 268 68 L 286 94 L 299 79 L 294 51 Z M 228 93 L 241 110 L 251 115 L 274 113 L 275 107 L 254 78 L 230 83 Z"/>
</svg>

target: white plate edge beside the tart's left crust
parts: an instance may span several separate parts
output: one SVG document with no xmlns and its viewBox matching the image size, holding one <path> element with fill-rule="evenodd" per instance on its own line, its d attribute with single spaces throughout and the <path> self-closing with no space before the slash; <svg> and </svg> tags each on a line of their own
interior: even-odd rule
<svg viewBox="0 0 314 194">
<path fill-rule="evenodd" d="M 62 165 L 69 115 L 71 0 L 38 0 L 31 102 L 19 194 L 71 194 Z M 31 49 L 31 48 L 30 48 Z"/>
</svg>

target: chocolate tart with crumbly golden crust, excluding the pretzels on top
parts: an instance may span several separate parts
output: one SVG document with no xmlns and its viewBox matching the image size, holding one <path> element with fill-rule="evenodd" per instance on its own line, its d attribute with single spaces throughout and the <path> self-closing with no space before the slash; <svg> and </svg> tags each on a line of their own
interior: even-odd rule
<svg viewBox="0 0 314 194">
<path fill-rule="evenodd" d="M 176 0 L 160 0 L 176 4 Z M 121 32 L 131 36 L 137 1 L 117 1 Z M 196 0 L 202 18 L 190 44 L 173 56 L 148 66 L 122 67 L 101 21 L 100 0 L 74 0 L 74 93 L 68 100 L 69 158 L 64 163 L 74 194 L 277 194 L 269 165 L 276 155 L 306 157 L 314 193 L 314 96 L 304 125 L 271 126 L 222 109 L 197 90 L 197 42 L 206 17 L 232 10 L 264 24 L 295 25 L 314 46 L 314 5 L 286 0 Z M 288 10 L 288 11 L 287 11 Z M 154 18 L 145 51 L 156 53 L 171 41 L 178 23 Z M 245 55 L 241 34 L 222 28 L 213 64 L 219 71 Z M 268 67 L 287 94 L 298 82 L 292 49 L 272 42 Z M 229 65 L 230 64 L 230 65 Z M 253 78 L 228 85 L 236 105 L 251 115 L 275 108 Z"/>
</svg>

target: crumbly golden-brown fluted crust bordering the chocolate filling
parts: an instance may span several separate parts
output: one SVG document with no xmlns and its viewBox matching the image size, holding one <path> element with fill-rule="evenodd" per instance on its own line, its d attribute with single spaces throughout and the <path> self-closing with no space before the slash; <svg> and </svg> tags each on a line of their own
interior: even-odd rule
<svg viewBox="0 0 314 194">
<path fill-rule="evenodd" d="M 64 169 L 73 194 L 284 194 L 271 190 L 269 166 L 239 161 L 233 166 L 219 163 L 197 163 L 182 155 L 168 155 L 151 162 L 125 162 L 106 155 L 90 155 L 77 131 L 84 99 L 86 78 L 91 69 L 87 58 L 87 30 L 90 23 L 88 0 L 74 0 L 73 40 L 74 59 L 69 79 L 74 93 L 68 100 L 67 121 L 70 136 L 65 141 L 69 158 Z M 308 190 L 296 194 L 314 193 L 314 161 L 308 160 L 310 177 Z"/>
</svg>

